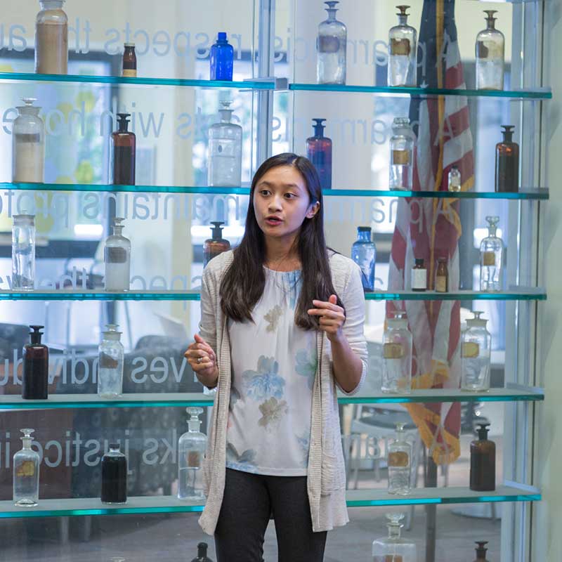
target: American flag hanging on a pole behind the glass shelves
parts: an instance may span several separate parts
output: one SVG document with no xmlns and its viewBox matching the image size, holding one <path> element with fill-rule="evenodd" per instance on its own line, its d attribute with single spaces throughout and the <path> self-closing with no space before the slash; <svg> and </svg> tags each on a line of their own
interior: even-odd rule
<svg viewBox="0 0 562 562">
<path fill-rule="evenodd" d="M 424 0 L 417 80 L 421 87 L 466 89 L 455 0 Z M 447 176 L 454 164 L 461 172 L 462 190 L 472 188 L 473 145 L 466 96 L 412 97 L 410 122 L 417 136 L 414 190 L 447 191 Z M 428 287 L 433 289 L 437 258 L 446 257 L 449 290 L 457 290 L 461 232 L 458 200 L 400 199 L 388 289 L 410 289 L 414 258 L 424 259 Z M 404 308 L 414 339 L 412 388 L 459 388 L 459 301 L 389 302 L 387 315 Z M 455 461 L 460 454 L 460 403 L 408 404 L 407 409 L 433 460 L 437 464 Z"/>
</svg>

